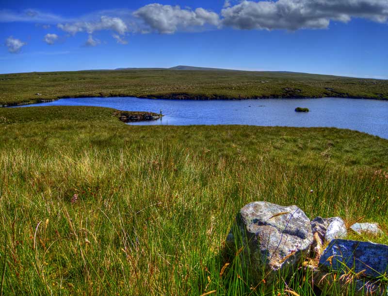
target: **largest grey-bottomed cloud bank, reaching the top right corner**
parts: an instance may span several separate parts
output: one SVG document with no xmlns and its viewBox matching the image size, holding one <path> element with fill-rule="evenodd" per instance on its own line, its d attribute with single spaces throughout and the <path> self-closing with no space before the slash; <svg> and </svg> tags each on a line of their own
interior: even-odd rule
<svg viewBox="0 0 388 296">
<path fill-rule="evenodd" d="M 277 0 L 248 1 L 224 8 L 223 24 L 235 29 L 325 29 L 331 20 L 348 22 L 362 17 L 388 19 L 387 0 Z"/>
</svg>

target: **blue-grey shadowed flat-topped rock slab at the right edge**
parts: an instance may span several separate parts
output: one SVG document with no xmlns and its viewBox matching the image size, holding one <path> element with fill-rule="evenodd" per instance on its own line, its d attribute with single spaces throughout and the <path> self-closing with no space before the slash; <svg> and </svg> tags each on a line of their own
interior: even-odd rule
<svg viewBox="0 0 388 296">
<path fill-rule="evenodd" d="M 333 240 L 323 251 L 319 267 L 337 273 L 361 273 L 378 278 L 388 273 L 388 246 L 350 240 Z"/>
</svg>

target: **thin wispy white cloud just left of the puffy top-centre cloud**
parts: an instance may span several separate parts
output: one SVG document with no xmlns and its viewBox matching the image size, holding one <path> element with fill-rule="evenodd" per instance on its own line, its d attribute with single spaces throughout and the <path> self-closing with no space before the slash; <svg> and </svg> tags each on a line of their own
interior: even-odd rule
<svg viewBox="0 0 388 296">
<path fill-rule="evenodd" d="M 121 18 L 110 16 L 101 16 L 100 19 L 95 22 L 79 21 L 74 23 L 58 24 L 57 27 L 73 35 L 78 32 L 87 32 L 92 34 L 95 31 L 101 30 L 112 30 L 119 34 L 125 34 L 128 31 L 126 23 Z"/>
</svg>

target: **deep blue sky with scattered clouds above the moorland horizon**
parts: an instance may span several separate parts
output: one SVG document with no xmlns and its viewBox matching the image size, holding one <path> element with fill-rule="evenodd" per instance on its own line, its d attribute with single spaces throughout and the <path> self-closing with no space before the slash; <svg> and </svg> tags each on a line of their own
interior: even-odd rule
<svg viewBox="0 0 388 296">
<path fill-rule="evenodd" d="M 0 73 L 178 65 L 388 79 L 388 0 L 0 0 Z"/>
</svg>

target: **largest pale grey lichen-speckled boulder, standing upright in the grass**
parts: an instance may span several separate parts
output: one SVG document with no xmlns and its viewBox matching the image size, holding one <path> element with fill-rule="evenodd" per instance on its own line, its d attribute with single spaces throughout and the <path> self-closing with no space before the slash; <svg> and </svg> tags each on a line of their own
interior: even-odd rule
<svg viewBox="0 0 388 296">
<path fill-rule="evenodd" d="M 298 268 L 312 239 L 310 220 L 297 206 L 258 201 L 240 210 L 226 245 L 239 256 L 244 272 L 270 283 Z"/>
</svg>

